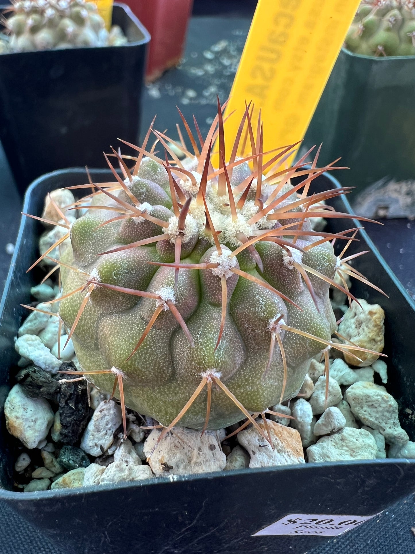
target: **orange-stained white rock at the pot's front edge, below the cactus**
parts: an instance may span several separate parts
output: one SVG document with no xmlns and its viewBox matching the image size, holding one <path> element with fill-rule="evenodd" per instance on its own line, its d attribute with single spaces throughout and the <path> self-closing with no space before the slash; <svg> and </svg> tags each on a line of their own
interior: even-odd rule
<svg viewBox="0 0 415 554">
<path fill-rule="evenodd" d="M 273 449 L 255 427 L 243 429 L 237 435 L 238 442 L 251 456 L 250 468 L 266 468 L 273 465 L 303 464 L 303 446 L 296 429 L 267 420 Z M 263 421 L 258 421 L 264 434 L 267 431 Z"/>
</svg>

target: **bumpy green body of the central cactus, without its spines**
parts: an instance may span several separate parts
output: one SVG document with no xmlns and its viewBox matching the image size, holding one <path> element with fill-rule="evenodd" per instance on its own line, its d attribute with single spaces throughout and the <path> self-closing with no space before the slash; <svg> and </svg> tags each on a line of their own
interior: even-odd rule
<svg viewBox="0 0 415 554">
<path fill-rule="evenodd" d="M 178 218 L 172 206 L 168 173 L 163 166 L 148 157 L 143 158 L 132 182 L 126 178 L 125 183 L 140 203 L 139 208 L 157 218 L 155 222 L 126 216 L 105 224 L 110 219 L 120 217 L 120 211 L 91 208 L 72 225 L 70 245 L 61 255 L 61 261 L 66 264 L 61 267 L 63 295 L 81 289 L 60 301 L 59 314 L 68 329 L 74 324 L 88 294 L 87 290 L 90 290 L 72 337 L 82 369 L 105 371 L 116 367 L 122 370 L 126 376 L 126 405 L 138 413 L 155 418 L 163 425 L 173 421 L 203 376 L 209 372 L 219 376 L 237 401 L 251 413 L 263 412 L 278 403 L 283 388 L 284 399 L 292 398 L 304 381 L 310 358 L 321 352 L 324 345 L 279 326 L 292 326 L 326 341 L 330 341 L 336 329 L 329 301 L 329 283 L 310 273 L 309 280 L 315 296 L 313 299 L 298 265 L 295 266 L 303 264 L 332 279 L 338 259 L 330 242 L 307 248 L 321 239 L 307 234 L 311 233 L 307 219 L 300 226 L 298 219 L 283 218 L 283 214 L 281 221 L 267 217 L 257 222 L 251 221 L 273 192 L 275 198 L 281 199 L 278 208 L 283 208 L 285 213 L 287 205 L 298 201 L 297 194 L 290 193 L 292 186 L 285 184 L 275 194 L 277 185 L 264 184 L 261 198 L 255 202 L 254 182 L 245 204 L 241 209 L 237 208 L 237 219 L 232 219 L 229 194 L 218 196 L 217 177 L 212 178 L 206 187 L 206 206 L 211 223 L 218 233 L 221 246 L 219 254 L 212 238 L 211 225 L 206 223 L 204 204 L 197 196 L 201 179 L 200 173 L 195 171 L 197 160 L 186 159 L 183 165 L 193 171 L 191 175 L 196 185 L 189 177 L 184 176 L 181 181 L 179 179 L 185 197 L 191 197 L 181 233 L 180 263 L 207 263 L 215 265 L 214 268 L 180 268 L 177 288 L 174 290 L 175 269 L 153 264 L 174 262 Z M 251 173 L 252 169 L 247 162 L 234 169 L 230 186 L 236 202 L 241 197 L 241 192 L 236 192 L 237 186 Z M 112 194 L 133 206 L 125 190 Z M 95 206 L 120 208 L 119 203 L 103 193 L 96 194 L 92 203 Z M 302 212 L 303 209 L 304 203 L 293 204 L 292 212 Z M 272 213 L 274 211 L 269 212 L 268 216 Z M 166 222 L 168 227 L 157 224 L 160 221 Z M 287 230 L 286 239 L 291 246 L 281 246 L 272 242 L 272 239 L 264 239 L 256 242 L 253 248 L 247 248 L 232 257 L 231 253 L 242 244 L 242 234 L 253 237 L 258 232 L 290 223 L 295 223 L 293 228 L 301 228 L 305 232 L 295 241 Z M 102 254 L 122 245 L 160 235 L 164 236 L 162 240 L 148 245 Z M 271 285 L 281 295 L 235 271 L 246 272 L 261 283 Z M 221 286 L 224 280 L 226 317 L 223 334 L 216 347 L 221 327 Z M 82 289 L 91 283 L 92 292 L 91 289 Z M 125 294 L 100 286 L 103 284 L 153 293 L 158 298 Z M 283 299 L 282 295 L 286 295 L 295 305 Z M 169 302 L 170 307 L 173 302 L 183 317 L 193 345 L 169 309 Z M 160 306 L 161 311 L 154 325 L 130 358 Z M 270 345 L 276 334 L 282 341 L 284 352 L 281 352 L 276 341 L 269 363 Z M 287 363 L 285 386 L 283 354 Z M 112 391 L 113 375 L 91 377 L 102 391 Z M 205 388 L 179 424 L 203 428 L 206 408 Z M 242 417 L 235 402 L 214 384 L 208 428 L 220 429 Z"/>
</svg>

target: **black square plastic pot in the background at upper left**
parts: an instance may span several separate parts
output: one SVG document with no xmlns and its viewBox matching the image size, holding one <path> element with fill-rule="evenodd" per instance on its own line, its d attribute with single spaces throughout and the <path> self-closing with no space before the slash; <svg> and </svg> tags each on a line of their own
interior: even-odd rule
<svg viewBox="0 0 415 554">
<path fill-rule="evenodd" d="M 21 192 L 61 167 L 103 167 L 118 137 L 136 142 L 150 35 L 125 4 L 112 22 L 128 44 L 0 55 L 0 141 Z"/>
</svg>

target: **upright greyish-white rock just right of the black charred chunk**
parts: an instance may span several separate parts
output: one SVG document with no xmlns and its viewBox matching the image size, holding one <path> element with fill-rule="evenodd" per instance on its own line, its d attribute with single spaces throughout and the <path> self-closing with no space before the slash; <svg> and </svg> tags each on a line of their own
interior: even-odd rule
<svg viewBox="0 0 415 554">
<path fill-rule="evenodd" d="M 114 442 L 114 433 L 122 423 L 121 407 L 116 402 L 101 402 L 96 408 L 84 435 L 81 448 L 91 456 L 100 456 Z"/>
</svg>

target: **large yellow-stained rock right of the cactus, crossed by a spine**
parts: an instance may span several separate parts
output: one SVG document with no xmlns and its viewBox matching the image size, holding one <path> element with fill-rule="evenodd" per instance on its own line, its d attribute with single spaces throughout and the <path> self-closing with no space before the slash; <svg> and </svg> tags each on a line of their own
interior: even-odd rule
<svg viewBox="0 0 415 554">
<path fill-rule="evenodd" d="M 378 304 L 368 304 L 366 300 L 358 299 L 360 305 L 355 300 L 352 301 L 351 307 L 346 311 L 339 325 L 339 334 L 346 338 L 356 346 L 382 352 L 385 346 L 385 312 Z M 366 367 L 370 366 L 377 358 L 377 354 L 369 352 L 360 352 L 358 350 L 350 351 L 356 355 L 361 362 L 356 358 L 345 353 L 344 359 L 351 366 Z"/>
</svg>

